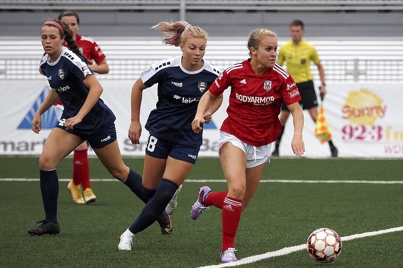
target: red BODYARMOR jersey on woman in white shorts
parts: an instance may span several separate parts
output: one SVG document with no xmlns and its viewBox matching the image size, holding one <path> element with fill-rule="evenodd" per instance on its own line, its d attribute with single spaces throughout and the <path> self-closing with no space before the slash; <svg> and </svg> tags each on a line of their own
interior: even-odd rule
<svg viewBox="0 0 403 268">
<path fill-rule="evenodd" d="M 255 74 L 249 60 L 225 69 L 210 86 L 219 96 L 231 86 L 228 117 L 221 130 L 253 146 L 275 141 L 281 133 L 279 120 L 281 104 L 290 105 L 301 100 L 291 75 L 280 65 Z"/>
</svg>

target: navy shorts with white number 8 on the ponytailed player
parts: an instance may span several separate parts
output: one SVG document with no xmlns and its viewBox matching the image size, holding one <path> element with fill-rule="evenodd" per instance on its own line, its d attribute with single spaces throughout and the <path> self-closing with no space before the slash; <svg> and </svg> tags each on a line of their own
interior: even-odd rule
<svg viewBox="0 0 403 268">
<path fill-rule="evenodd" d="M 196 163 L 200 146 L 183 145 L 151 134 L 147 138 L 146 153 L 155 158 L 167 159 L 168 156 L 191 164 Z"/>
</svg>

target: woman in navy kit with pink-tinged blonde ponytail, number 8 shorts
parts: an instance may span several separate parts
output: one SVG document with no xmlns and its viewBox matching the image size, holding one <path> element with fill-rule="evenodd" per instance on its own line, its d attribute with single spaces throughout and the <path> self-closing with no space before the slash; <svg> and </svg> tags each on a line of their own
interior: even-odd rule
<svg viewBox="0 0 403 268">
<path fill-rule="evenodd" d="M 119 250 L 130 250 L 134 235 L 154 223 L 164 210 L 171 213 L 174 210 L 172 206 L 169 211 L 167 205 L 171 198 L 175 203 L 178 187 L 196 162 L 203 143 L 202 133 L 195 135 L 190 125 L 197 103 L 220 73 L 216 66 L 203 59 L 208 38 L 203 29 L 187 22 L 161 22 L 153 28 L 163 32 L 163 43 L 178 46 L 183 53 L 142 71 L 131 90 L 128 137 L 133 144 L 140 144 L 143 90 L 158 84 L 158 102 L 145 125 L 149 136 L 141 186 L 148 195 L 147 204 L 120 236 Z M 206 109 L 202 115 L 205 123 L 210 122 L 221 103 L 222 96 Z"/>
</svg>

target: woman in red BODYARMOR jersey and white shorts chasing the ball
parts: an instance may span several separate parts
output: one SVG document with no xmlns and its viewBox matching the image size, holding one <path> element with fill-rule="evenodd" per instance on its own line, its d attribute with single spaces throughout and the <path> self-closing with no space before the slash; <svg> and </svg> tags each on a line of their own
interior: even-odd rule
<svg viewBox="0 0 403 268">
<path fill-rule="evenodd" d="M 211 205 L 222 209 L 222 262 L 237 260 L 234 242 L 241 211 L 249 205 L 265 163 L 269 161 L 271 143 L 281 133 L 279 114 L 283 101 L 294 118 L 291 147 L 297 156 L 305 151 L 302 140 L 304 117 L 298 104 L 301 98 L 293 78 L 276 64 L 276 33 L 267 29 L 254 30 L 247 46 L 250 58 L 220 74 L 201 98 L 191 124 L 193 131 L 200 133 L 207 108 L 231 86 L 228 117 L 221 126 L 218 141 L 228 191 L 213 193 L 209 187 L 201 187 L 191 209 L 193 220 Z"/>
</svg>

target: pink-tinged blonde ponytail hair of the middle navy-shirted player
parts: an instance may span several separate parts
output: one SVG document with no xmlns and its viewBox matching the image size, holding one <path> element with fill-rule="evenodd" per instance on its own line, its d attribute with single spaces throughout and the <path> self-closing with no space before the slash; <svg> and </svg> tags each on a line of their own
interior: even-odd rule
<svg viewBox="0 0 403 268">
<path fill-rule="evenodd" d="M 162 42 L 167 45 L 179 46 L 184 44 L 190 37 L 204 38 L 207 40 L 208 34 L 198 26 L 191 26 L 187 22 L 160 22 L 151 28 L 160 29 L 163 32 Z"/>
</svg>

